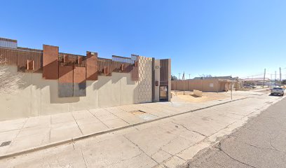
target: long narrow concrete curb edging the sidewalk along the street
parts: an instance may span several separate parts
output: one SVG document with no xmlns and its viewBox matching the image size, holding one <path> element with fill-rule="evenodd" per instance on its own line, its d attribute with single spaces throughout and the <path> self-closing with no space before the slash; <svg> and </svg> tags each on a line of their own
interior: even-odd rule
<svg viewBox="0 0 286 168">
<path fill-rule="evenodd" d="M 99 135 L 102 135 L 102 134 L 107 134 L 109 132 L 115 132 L 115 131 L 118 131 L 118 130 L 124 130 L 126 128 L 135 127 L 137 125 L 144 125 L 144 124 L 147 124 L 147 123 L 153 123 L 155 121 L 163 120 L 165 118 L 172 118 L 172 117 L 175 117 L 175 116 L 184 115 L 186 113 L 192 113 L 194 111 L 200 111 L 200 110 L 203 110 L 203 109 L 209 109 L 209 108 L 212 108 L 214 106 L 220 106 L 222 104 L 227 104 L 227 103 L 230 103 L 230 102 L 236 102 L 236 101 L 243 100 L 243 99 L 247 99 L 247 97 L 243 97 L 243 98 L 240 98 L 240 99 L 234 99 L 234 100 L 231 100 L 231 101 L 228 101 L 228 102 L 219 103 L 219 104 L 214 104 L 214 105 L 211 105 L 211 106 L 206 106 L 206 107 L 199 108 L 199 109 L 194 109 L 194 110 L 191 110 L 191 111 L 185 111 L 185 112 L 173 114 L 173 115 L 170 115 L 170 116 L 164 116 L 164 117 L 161 117 L 161 118 L 156 118 L 154 120 L 147 120 L 147 121 L 144 121 L 142 123 L 136 123 L 136 124 L 132 124 L 132 125 L 126 125 L 124 127 L 118 127 L 118 128 L 114 128 L 114 129 L 111 129 L 111 130 L 106 130 L 106 131 L 103 131 L 103 132 L 96 132 L 96 133 L 93 133 L 93 134 L 87 134 L 87 135 L 83 135 L 81 137 L 75 137 L 73 139 L 67 139 L 67 140 L 64 140 L 64 141 L 58 141 L 58 142 L 55 142 L 55 143 L 52 143 L 52 144 L 47 144 L 47 145 L 44 145 L 44 146 L 39 146 L 39 147 L 35 147 L 35 148 L 29 148 L 29 149 L 26 149 L 24 151 L 19 151 L 19 152 L 15 152 L 15 153 L 9 153 L 8 155 L 1 155 L 0 156 L 0 160 L 6 159 L 6 158 L 14 158 L 14 157 L 19 156 L 19 155 L 24 155 L 24 154 L 27 154 L 27 153 L 33 153 L 33 152 L 36 152 L 36 151 L 41 151 L 41 150 L 46 149 L 46 148 L 52 148 L 52 147 L 60 146 L 60 145 L 63 145 L 63 144 L 71 144 L 71 143 L 74 143 L 74 141 L 79 141 L 79 140 L 82 140 L 82 139 L 88 139 L 90 137 L 96 137 L 96 136 L 99 136 Z"/>
</svg>

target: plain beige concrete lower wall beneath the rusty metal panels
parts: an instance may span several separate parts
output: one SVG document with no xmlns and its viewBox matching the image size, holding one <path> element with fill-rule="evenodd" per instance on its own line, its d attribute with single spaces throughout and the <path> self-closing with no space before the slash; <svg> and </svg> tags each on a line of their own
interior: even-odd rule
<svg viewBox="0 0 286 168">
<path fill-rule="evenodd" d="M 16 66 L 9 66 L 8 71 L 18 73 Z M 138 82 L 131 80 L 130 73 L 112 73 L 112 76 L 99 76 L 96 81 L 87 81 L 86 97 L 58 97 L 57 80 L 45 80 L 41 73 L 19 74 L 25 84 L 14 94 L 0 94 L 0 120 L 142 101 L 139 101 Z"/>
</svg>

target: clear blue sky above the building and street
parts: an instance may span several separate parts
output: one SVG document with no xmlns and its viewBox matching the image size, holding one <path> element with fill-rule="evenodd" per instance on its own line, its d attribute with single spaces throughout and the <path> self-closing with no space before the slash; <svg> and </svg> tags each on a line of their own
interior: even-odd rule
<svg viewBox="0 0 286 168">
<path fill-rule="evenodd" d="M 172 74 L 188 78 L 261 77 L 264 68 L 270 78 L 280 66 L 286 78 L 285 7 L 285 0 L 1 1 L 0 36 L 81 55 L 171 58 Z"/>
</svg>

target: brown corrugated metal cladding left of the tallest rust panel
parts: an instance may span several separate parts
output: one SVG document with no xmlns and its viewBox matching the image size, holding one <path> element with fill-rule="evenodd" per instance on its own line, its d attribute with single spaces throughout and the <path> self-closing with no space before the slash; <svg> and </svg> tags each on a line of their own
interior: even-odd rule
<svg viewBox="0 0 286 168">
<path fill-rule="evenodd" d="M 33 50 L 30 48 L 0 48 L 0 57 L 6 64 L 18 66 L 19 71 L 25 72 L 41 72 L 42 71 L 42 55 L 41 50 Z M 34 61 L 34 70 L 27 70 L 27 60 Z"/>
</svg>

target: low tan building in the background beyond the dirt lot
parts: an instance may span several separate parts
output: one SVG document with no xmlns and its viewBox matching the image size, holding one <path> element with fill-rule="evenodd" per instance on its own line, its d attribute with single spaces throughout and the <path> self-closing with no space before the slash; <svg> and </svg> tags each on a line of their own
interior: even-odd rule
<svg viewBox="0 0 286 168">
<path fill-rule="evenodd" d="M 231 76 L 222 77 L 197 77 L 189 80 L 172 80 L 172 90 L 200 90 L 203 92 L 227 92 L 240 87 L 238 78 L 232 78 Z"/>
</svg>

